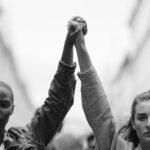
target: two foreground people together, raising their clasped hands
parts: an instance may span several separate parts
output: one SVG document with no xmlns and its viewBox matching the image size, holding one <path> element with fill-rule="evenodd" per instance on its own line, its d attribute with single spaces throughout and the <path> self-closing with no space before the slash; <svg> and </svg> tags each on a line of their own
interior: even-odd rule
<svg viewBox="0 0 150 150">
<path fill-rule="evenodd" d="M 6 124 L 14 111 L 14 95 L 11 87 L 0 81 L 0 149 L 43 150 L 53 142 L 74 101 L 75 47 L 80 68 L 78 77 L 81 80 L 82 107 L 93 131 L 86 139 L 88 146 L 81 144 L 80 148 L 149 150 L 150 91 L 135 97 L 131 117 L 118 132 L 107 95 L 86 47 L 87 22 L 75 16 L 69 20 L 67 28 L 62 56 L 50 84 L 48 97 L 24 127 L 12 127 L 6 131 Z M 56 147 L 52 146 L 52 149 Z"/>
</svg>

